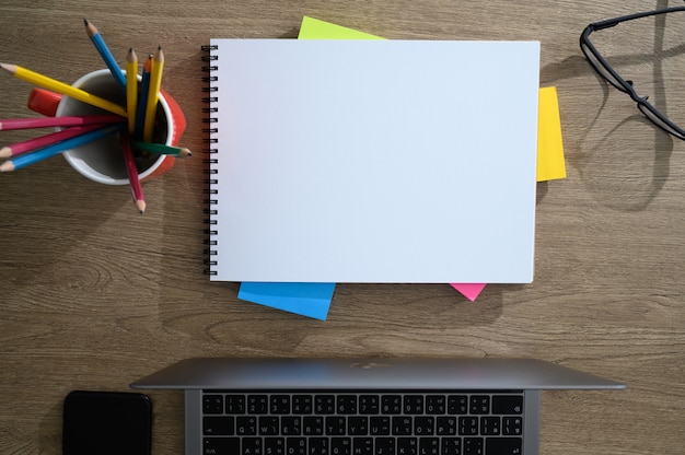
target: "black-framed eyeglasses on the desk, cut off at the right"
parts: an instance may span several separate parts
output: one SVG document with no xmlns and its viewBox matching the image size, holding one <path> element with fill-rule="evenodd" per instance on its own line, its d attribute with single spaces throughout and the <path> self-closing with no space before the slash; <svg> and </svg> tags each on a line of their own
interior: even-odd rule
<svg viewBox="0 0 685 455">
<path fill-rule="evenodd" d="M 606 61 L 602 55 L 597 51 L 594 45 L 590 42 L 590 34 L 592 32 L 599 32 L 605 28 L 614 27 L 622 22 L 632 21 L 636 19 L 648 18 L 651 15 L 658 14 L 666 14 L 676 11 L 685 11 L 685 7 L 674 7 L 666 8 L 663 10 L 649 11 L 643 13 L 636 13 L 624 15 L 616 19 L 609 19 L 606 21 L 594 22 L 585 27 L 582 35 L 580 35 L 580 48 L 592 65 L 592 68 L 602 75 L 609 84 L 614 85 L 616 89 L 620 90 L 624 93 L 630 95 L 632 101 L 638 104 L 638 109 L 645 116 L 651 120 L 652 124 L 657 125 L 659 128 L 664 131 L 675 136 L 678 139 L 685 140 L 685 129 L 678 127 L 673 121 L 669 120 L 669 118 L 659 112 L 648 100 L 649 96 L 640 96 L 637 91 L 632 86 L 632 81 L 627 81 L 622 78 L 614 68 Z"/>
</svg>

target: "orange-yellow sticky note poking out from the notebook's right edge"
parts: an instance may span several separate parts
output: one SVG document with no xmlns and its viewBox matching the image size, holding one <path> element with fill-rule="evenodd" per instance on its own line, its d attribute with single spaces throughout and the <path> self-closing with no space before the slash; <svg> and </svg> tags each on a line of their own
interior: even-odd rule
<svg viewBox="0 0 685 455">
<path fill-rule="evenodd" d="M 537 182 L 566 178 L 557 88 L 539 90 L 537 120 Z"/>
</svg>

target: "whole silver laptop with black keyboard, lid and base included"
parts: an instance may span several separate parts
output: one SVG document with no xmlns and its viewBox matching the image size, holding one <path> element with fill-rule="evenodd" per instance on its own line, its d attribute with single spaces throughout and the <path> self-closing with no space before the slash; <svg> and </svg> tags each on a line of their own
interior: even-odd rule
<svg viewBox="0 0 685 455">
<path fill-rule="evenodd" d="M 535 455 L 541 390 L 624 384 L 533 359 L 188 359 L 187 455 Z"/>
</svg>

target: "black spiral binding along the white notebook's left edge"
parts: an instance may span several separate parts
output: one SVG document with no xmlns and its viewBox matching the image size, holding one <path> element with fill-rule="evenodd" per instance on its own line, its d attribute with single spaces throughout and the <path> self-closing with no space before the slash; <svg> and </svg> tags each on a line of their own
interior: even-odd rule
<svg viewBox="0 0 685 455">
<path fill-rule="evenodd" d="M 217 117 L 216 114 L 218 112 L 217 101 L 218 101 L 218 90 L 219 88 L 214 82 L 217 82 L 217 60 L 218 56 L 212 51 L 217 50 L 217 46 L 207 45 L 202 46 L 202 51 L 206 52 L 202 56 L 202 71 L 207 74 L 202 77 L 202 81 L 205 82 L 205 86 L 202 86 L 202 92 L 205 92 L 205 96 L 202 96 L 202 103 L 206 103 L 207 106 L 202 107 L 202 113 L 207 114 L 205 118 L 202 118 L 202 122 L 206 124 L 202 128 L 202 133 L 205 138 L 202 142 L 206 147 L 202 149 L 202 153 L 206 155 L 206 159 L 202 162 L 207 165 L 207 175 L 208 178 L 206 180 L 207 189 L 206 194 L 208 198 L 205 200 L 205 214 L 207 214 L 207 219 L 205 220 L 205 224 L 207 224 L 207 229 L 205 229 L 205 273 L 207 275 L 217 275 L 214 267 L 217 266 L 217 250 L 214 247 L 217 246 L 217 209 L 214 206 L 217 205 L 217 184 L 219 182 L 218 168 L 217 164 L 219 163 L 217 143 L 218 139 L 216 139 L 216 133 L 218 132 L 217 127 Z"/>
</svg>

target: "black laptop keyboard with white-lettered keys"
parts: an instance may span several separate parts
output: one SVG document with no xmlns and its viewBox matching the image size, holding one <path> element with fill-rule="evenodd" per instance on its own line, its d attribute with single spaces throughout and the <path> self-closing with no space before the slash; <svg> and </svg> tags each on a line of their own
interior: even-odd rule
<svg viewBox="0 0 685 455">
<path fill-rule="evenodd" d="M 202 392 L 204 455 L 521 455 L 523 392 Z"/>
</svg>

